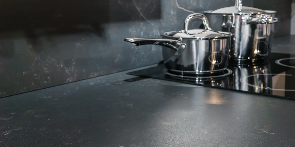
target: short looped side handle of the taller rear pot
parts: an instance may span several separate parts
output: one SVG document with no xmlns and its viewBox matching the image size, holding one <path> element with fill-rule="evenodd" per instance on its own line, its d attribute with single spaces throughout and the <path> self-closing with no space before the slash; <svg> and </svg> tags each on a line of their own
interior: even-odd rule
<svg viewBox="0 0 295 147">
<path fill-rule="evenodd" d="M 276 22 L 278 22 L 278 18 L 264 14 L 249 17 L 247 20 L 247 24 L 272 24 Z"/>
</svg>

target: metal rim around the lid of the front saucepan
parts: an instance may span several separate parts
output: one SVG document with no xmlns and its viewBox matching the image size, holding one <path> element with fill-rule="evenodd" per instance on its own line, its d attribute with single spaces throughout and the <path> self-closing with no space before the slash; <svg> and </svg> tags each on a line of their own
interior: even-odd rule
<svg viewBox="0 0 295 147">
<path fill-rule="evenodd" d="M 188 39 L 188 40 L 220 40 L 220 39 L 225 39 L 225 38 L 230 38 L 231 36 L 233 36 L 233 33 L 230 32 L 223 32 L 223 31 L 217 31 L 219 33 L 223 33 L 223 34 L 227 34 L 230 36 L 223 36 L 223 37 L 212 37 L 212 38 L 186 38 L 186 37 L 173 37 L 173 36 L 169 36 L 169 34 L 172 33 L 177 33 L 178 31 L 168 31 L 168 32 L 164 32 L 162 34 L 160 34 L 160 36 L 164 36 L 167 38 L 173 38 L 173 39 Z"/>
</svg>

